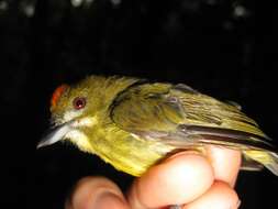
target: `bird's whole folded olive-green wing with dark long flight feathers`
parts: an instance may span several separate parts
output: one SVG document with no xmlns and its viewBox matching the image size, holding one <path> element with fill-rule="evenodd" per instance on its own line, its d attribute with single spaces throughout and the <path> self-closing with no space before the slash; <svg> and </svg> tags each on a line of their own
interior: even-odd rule
<svg viewBox="0 0 278 209">
<path fill-rule="evenodd" d="M 157 82 L 129 88 L 115 98 L 111 118 L 125 131 L 167 139 L 169 143 L 192 139 L 194 143 L 269 146 L 267 136 L 238 106 L 221 102 L 186 85 Z"/>
</svg>

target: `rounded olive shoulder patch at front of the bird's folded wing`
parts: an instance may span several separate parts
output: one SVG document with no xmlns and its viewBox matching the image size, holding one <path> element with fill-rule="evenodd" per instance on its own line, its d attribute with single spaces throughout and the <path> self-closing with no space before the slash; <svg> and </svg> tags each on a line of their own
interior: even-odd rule
<svg viewBox="0 0 278 209">
<path fill-rule="evenodd" d="M 185 110 L 169 97 L 170 88 L 170 85 L 165 84 L 129 88 L 113 101 L 112 120 L 130 132 L 175 131 L 185 118 Z"/>
</svg>

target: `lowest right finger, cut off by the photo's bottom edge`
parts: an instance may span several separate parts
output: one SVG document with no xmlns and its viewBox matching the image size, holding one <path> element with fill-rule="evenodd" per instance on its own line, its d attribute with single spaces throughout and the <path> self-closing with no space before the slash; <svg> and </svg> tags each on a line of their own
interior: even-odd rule
<svg viewBox="0 0 278 209">
<path fill-rule="evenodd" d="M 240 202 L 236 193 L 229 184 L 215 182 L 204 195 L 186 205 L 184 209 L 236 209 Z"/>
</svg>

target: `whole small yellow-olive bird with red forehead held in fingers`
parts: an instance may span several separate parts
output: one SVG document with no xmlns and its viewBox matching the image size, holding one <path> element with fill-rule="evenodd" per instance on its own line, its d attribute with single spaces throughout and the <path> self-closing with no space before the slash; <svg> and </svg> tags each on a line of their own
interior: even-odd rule
<svg viewBox="0 0 278 209">
<path fill-rule="evenodd" d="M 181 150 L 205 155 L 207 144 L 240 150 L 243 169 L 278 175 L 277 150 L 238 105 L 184 84 L 90 76 L 58 87 L 51 112 L 54 128 L 37 147 L 69 140 L 134 176 Z"/>
</svg>

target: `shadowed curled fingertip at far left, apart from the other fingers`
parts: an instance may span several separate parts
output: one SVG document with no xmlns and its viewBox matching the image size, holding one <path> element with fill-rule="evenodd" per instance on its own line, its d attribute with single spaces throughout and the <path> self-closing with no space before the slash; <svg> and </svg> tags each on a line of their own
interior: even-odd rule
<svg viewBox="0 0 278 209">
<path fill-rule="evenodd" d="M 103 177 L 86 177 L 77 183 L 66 209 L 127 209 L 119 187 Z"/>
</svg>

